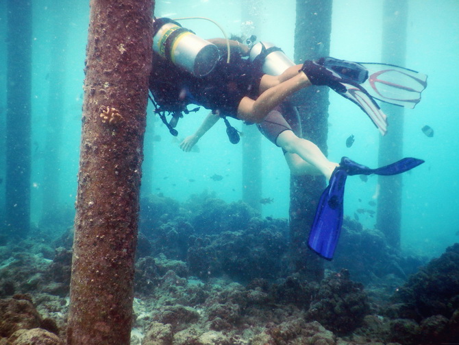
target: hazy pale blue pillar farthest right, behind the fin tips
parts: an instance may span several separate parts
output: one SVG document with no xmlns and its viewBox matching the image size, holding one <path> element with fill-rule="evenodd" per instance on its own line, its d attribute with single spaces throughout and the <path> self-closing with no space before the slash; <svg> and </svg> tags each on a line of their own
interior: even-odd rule
<svg viewBox="0 0 459 345">
<path fill-rule="evenodd" d="M 385 0 L 383 12 L 382 61 L 405 65 L 407 0 Z M 404 108 L 381 104 L 389 117 L 389 129 L 380 138 L 378 163 L 388 165 L 403 156 Z M 376 227 L 386 235 L 390 246 L 400 247 L 402 175 L 378 176 L 380 194 L 377 199 Z"/>
</svg>

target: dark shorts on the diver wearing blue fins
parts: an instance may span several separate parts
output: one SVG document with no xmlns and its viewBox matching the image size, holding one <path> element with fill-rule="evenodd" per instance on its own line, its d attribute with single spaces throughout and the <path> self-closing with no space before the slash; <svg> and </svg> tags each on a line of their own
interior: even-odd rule
<svg viewBox="0 0 459 345">
<path fill-rule="evenodd" d="M 303 135 L 298 110 L 289 102 L 283 102 L 271 110 L 264 120 L 257 124 L 257 127 L 275 145 L 277 145 L 277 136 L 284 130 L 291 130 L 299 137 Z"/>
</svg>

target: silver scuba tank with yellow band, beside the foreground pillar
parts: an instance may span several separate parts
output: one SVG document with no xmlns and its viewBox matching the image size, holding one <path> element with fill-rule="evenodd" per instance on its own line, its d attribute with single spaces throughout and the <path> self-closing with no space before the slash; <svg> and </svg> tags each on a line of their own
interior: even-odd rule
<svg viewBox="0 0 459 345">
<path fill-rule="evenodd" d="M 219 60 L 219 49 L 169 18 L 153 20 L 153 51 L 197 77 L 207 75 Z"/>
</svg>

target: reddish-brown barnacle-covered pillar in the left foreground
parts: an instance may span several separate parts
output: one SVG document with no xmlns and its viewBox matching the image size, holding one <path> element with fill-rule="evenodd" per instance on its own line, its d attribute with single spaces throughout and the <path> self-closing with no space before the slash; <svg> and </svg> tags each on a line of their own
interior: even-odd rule
<svg viewBox="0 0 459 345">
<path fill-rule="evenodd" d="M 151 0 L 91 0 L 67 344 L 129 344 Z"/>
</svg>

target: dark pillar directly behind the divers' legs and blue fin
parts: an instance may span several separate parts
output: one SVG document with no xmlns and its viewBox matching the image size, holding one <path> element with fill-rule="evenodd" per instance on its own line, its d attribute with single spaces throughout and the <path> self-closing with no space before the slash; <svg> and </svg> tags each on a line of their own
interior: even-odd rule
<svg viewBox="0 0 459 345">
<path fill-rule="evenodd" d="M 332 0 L 297 0 L 295 25 L 295 62 L 327 56 L 332 31 Z M 319 91 L 319 92 L 318 92 Z M 301 92 L 304 106 L 299 107 L 304 138 L 316 143 L 327 154 L 328 88 Z M 322 259 L 306 246 L 317 202 L 325 188 L 325 178 L 290 177 L 290 238 L 293 268 L 318 281 L 323 278 Z"/>
</svg>

